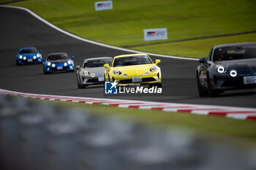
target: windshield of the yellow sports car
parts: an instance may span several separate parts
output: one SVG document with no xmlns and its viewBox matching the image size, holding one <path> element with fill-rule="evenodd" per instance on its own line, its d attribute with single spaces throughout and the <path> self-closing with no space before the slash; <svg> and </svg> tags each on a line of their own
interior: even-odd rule
<svg viewBox="0 0 256 170">
<path fill-rule="evenodd" d="M 148 63 L 152 63 L 151 59 L 149 59 L 148 56 L 138 55 L 138 56 L 131 56 L 131 57 L 116 58 L 113 63 L 113 67 L 132 66 L 132 65 L 148 64 Z"/>
</svg>

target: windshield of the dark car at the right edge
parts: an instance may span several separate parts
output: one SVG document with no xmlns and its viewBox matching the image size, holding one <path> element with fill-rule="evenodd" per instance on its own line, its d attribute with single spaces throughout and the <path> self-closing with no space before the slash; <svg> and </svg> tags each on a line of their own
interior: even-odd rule
<svg viewBox="0 0 256 170">
<path fill-rule="evenodd" d="M 214 61 L 256 58 L 256 45 L 223 47 L 214 50 Z"/>
</svg>

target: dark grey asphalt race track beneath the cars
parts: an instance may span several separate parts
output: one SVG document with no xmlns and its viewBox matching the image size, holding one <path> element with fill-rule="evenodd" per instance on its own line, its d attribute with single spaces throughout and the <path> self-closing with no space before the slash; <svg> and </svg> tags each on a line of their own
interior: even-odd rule
<svg viewBox="0 0 256 170">
<path fill-rule="evenodd" d="M 162 68 L 162 95 L 104 96 L 103 85 L 78 89 L 75 72 L 45 75 L 42 64 L 16 66 L 15 52 L 20 47 L 31 46 L 42 50 L 43 58 L 48 53 L 67 52 L 75 56 L 75 65 L 82 65 L 85 58 L 113 57 L 127 52 L 74 39 L 20 9 L 0 7 L 0 35 L 0 88 L 3 89 L 61 96 L 256 107 L 256 90 L 232 91 L 216 98 L 198 97 L 195 80 L 198 62 L 171 58 L 159 58 L 162 61 L 159 64 Z"/>
</svg>

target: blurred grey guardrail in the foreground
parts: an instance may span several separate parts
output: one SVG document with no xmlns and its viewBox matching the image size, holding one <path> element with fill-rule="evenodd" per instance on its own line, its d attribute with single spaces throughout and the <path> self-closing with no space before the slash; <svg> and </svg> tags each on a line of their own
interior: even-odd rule
<svg viewBox="0 0 256 170">
<path fill-rule="evenodd" d="M 0 95 L 0 169 L 256 169 L 256 152 Z"/>
</svg>

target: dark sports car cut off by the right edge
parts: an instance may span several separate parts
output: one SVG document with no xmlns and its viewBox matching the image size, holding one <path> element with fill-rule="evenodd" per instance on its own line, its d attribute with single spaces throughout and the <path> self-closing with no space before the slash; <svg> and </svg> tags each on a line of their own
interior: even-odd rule
<svg viewBox="0 0 256 170">
<path fill-rule="evenodd" d="M 197 67 L 199 96 L 217 96 L 225 90 L 256 88 L 256 43 L 217 45 Z"/>
</svg>

